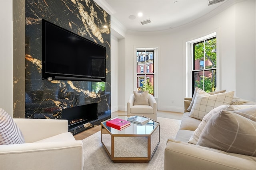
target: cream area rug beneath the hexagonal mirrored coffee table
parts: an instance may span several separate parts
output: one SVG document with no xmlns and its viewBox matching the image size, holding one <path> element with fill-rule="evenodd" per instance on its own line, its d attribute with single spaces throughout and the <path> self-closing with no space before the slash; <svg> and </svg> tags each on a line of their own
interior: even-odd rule
<svg viewBox="0 0 256 170">
<path fill-rule="evenodd" d="M 113 163 L 100 142 L 100 131 L 83 139 L 84 170 L 163 170 L 164 149 L 168 138 L 175 138 L 180 120 L 157 117 L 160 122 L 160 144 L 148 163 Z"/>
</svg>

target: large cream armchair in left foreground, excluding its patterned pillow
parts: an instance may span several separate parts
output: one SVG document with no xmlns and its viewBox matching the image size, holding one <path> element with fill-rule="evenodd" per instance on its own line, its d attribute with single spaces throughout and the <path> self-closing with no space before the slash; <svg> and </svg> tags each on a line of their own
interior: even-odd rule
<svg viewBox="0 0 256 170">
<path fill-rule="evenodd" d="M 83 143 L 67 120 L 14 119 L 25 143 L 0 145 L 1 170 L 82 170 Z"/>
</svg>

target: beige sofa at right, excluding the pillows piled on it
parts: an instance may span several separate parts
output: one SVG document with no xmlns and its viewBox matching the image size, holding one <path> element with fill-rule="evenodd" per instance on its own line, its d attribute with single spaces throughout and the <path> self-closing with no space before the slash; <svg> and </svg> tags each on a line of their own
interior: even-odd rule
<svg viewBox="0 0 256 170">
<path fill-rule="evenodd" d="M 175 139 L 168 139 L 164 152 L 165 170 L 256 170 L 256 156 L 225 152 L 188 143 L 201 120 L 189 117 L 192 98 L 184 100 L 184 114 Z M 234 97 L 230 105 L 247 105 L 256 112 L 256 103 Z M 201 133 L 202 134 L 202 133 Z M 246 139 L 244 139 L 246 140 Z M 256 141 L 256 136 L 255 136 Z M 255 147 L 255 146 L 252 146 Z"/>
</svg>

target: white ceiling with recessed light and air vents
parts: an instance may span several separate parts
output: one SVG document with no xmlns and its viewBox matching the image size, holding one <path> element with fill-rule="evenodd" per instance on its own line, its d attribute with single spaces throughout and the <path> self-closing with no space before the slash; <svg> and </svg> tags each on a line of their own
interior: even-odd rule
<svg viewBox="0 0 256 170">
<path fill-rule="evenodd" d="M 209 0 L 94 0 L 130 31 L 161 31 L 205 20 L 241 0 L 225 0 L 208 6 Z M 218 1 L 218 0 L 217 0 Z M 143 16 L 139 17 L 138 13 Z M 130 19 L 132 16 L 134 19 Z M 140 22 L 150 19 L 151 23 Z"/>
</svg>

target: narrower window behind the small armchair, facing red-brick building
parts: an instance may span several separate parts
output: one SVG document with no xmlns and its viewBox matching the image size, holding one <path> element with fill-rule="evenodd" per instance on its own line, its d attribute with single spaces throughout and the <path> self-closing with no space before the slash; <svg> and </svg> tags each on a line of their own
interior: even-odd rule
<svg viewBox="0 0 256 170">
<path fill-rule="evenodd" d="M 142 91 L 149 91 L 154 95 L 154 50 L 137 50 L 137 89 L 140 87 Z M 144 71 L 146 68 L 146 71 Z M 143 73 L 143 74 L 142 74 Z"/>
</svg>

